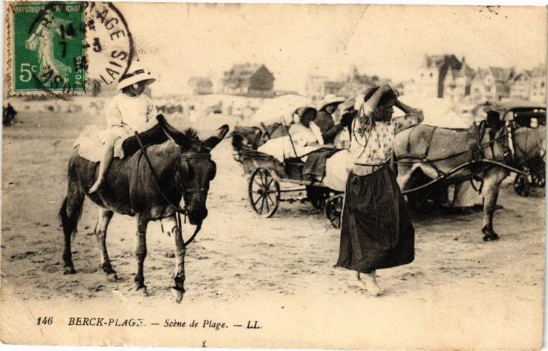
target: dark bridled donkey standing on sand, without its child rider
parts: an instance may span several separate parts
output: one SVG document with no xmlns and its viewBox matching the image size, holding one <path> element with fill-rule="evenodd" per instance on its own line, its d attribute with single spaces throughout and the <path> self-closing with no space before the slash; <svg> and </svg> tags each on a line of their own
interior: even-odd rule
<svg viewBox="0 0 548 351">
<path fill-rule="evenodd" d="M 59 213 L 64 232 L 64 272 L 65 274 L 75 273 L 71 237 L 76 232 L 84 198 L 88 195 L 91 201 L 100 207 L 95 234 L 101 250 L 101 267 L 107 274 L 107 278 L 109 280 L 118 278 L 110 264 L 105 243 L 108 223 L 114 212 L 137 217 L 135 282 L 137 289 L 143 289 L 145 293 L 143 262 L 147 256 L 147 224 L 149 221 L 162 219 L 162 226 L 175 240 L 175 286 L 171 291 L 177 302 L 181 302 L 184 294 L 186 245 L 182 231 L 177 226 L 175 206 L 179 206 L 183 198 L 190 223 L 201 226 L 203 219 L 208 215 L 206 198 L 209 184 L 216 173 L 215 162 L 211 160 L 210 151 L 225 137 L 228 126 L 223 125 L 214 136 L 200 141 L 193 130 L 177 132 L 166 125 L 163 119 L 158 120 L 163 132 L 171 139 L 167 143 L 151 145 L 146 149 L 155 174 L 159 178 L 158 183 L 147 160 L 143 157 L 145 155 L 138 150 L 124 160 L 114 159 L 105 184 L 99 191 L 89 195 L 87 189 L 95 180 L 97 163 L 80 157 L 77 150 L 71 156 L 68 191 Z M 133 142 L 135 141 L 134 139 Z"/>
</svg>

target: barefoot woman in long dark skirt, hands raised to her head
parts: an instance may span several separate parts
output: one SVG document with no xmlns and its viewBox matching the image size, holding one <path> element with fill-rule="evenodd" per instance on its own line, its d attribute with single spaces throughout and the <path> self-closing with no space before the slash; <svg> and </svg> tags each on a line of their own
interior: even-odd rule
<svg viewBox="0 0 548 351">
<path fill-rule="evenodd" d="M 414 260 L 414 228 L 388 162 L 395 134 L 421 123 L 424 117 L 421 110 L 397 97 L 388 85 L 367 90 L 351 125 L 354 167 L 346 185 L 335 266 L 358 271 L 358 280 L 373 295 L 382 294 L 376 269 Z M 405 116 L 393 117 L 394 106 Z"/>
</svg>

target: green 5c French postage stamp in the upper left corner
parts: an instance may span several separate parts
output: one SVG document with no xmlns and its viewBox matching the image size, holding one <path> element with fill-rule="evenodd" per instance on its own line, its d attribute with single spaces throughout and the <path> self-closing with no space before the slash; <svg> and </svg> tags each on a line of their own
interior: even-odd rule
<svg viewBox="0 0 548 351">
<path fill-rule="evenodd" d="M 10 93 L 83 93 L 86 81 L 84 3 L 10 5 Z"/>
</svg>

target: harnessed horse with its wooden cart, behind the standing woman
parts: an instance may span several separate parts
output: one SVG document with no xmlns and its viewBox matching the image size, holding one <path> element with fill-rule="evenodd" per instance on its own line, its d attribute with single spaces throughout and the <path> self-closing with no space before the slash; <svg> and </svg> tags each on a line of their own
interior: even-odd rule
<svg viewBox="0 0 548 351">
<path fill-rule="evenodd" d="M 486 112 L 490 108 L 493 106 L 484 106 Z M 506 119 L 507 115 L 510 117 L 506 112 L 503 118 L 499 113 L 488 112 L 485 123 L 474 123 L 470 128 L 425 124 L 398 133 L 393 165 L 397 166 L 397 181 L 403 195 L 407 195 L 408 204 L 419 209 L 425 204 L 449 203 L 449 186 L 454 184 L 453 205 L 456 198 L 464 198 L 462 194 L 466 193 L 466 183 L 470 181 L 483 197 L 483 239 L 499 239 L 493 229 L 493 214 L 502 180 L 510 172 L 518 174 L 519 179 L 540 178 L 544 169 L 545 107 L 516 104 L 505 111 L 510 110 L 514 112 L 513 119 Z M 493 119 L 493 116 L 497 118 Z M 530 123 L 523 125 L 525 119 Z M 338 228 L 343 212 L 344 182 L 353 164 L 351 159 L 349 162 L 344 160 L 347 151 L 337 152 L 327 159 L 325 178 L 310 179 L 303 175 L 307 164 L 302 160 L 286 158 L 284 153 L 281 162 L 269 154 L 258 152 L 255 141 L 262 141 L 260 137 L 264 132 L 260 128 L 247 129 L 251 132 L 245 128 L 234 129 L 232 146 L 237 154 L 236 160 L 249 175 L 249 202 L 253 210 L 263 217 L 271 217 L 279 202 L 284 201 L 282 193 L 306 191 L 305 199 L 310 200 L 314 207 L 323 208 L 329 223 Z M 534 172 L 527 162 L 534 162 L 536 158 L 542 162 Z M 335 179 L 336 182 L 332 182 Z M 479 181 L 479 187 L 473 180 Z M 282 189 L 281 184 L 291 187 Z"/>
</svg>

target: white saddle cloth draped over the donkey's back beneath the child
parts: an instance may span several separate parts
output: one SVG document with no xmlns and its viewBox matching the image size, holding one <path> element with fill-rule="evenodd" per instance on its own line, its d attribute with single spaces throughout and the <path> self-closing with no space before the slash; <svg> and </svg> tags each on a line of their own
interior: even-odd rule
<svg viewBox="0 0 548 351">
<path fill-rule="evenodd" d="M 78 148 L 78 155 L 91 162 L 100 162 L 103 158 L 103 144 L 108 138 L 109 131 L 101 130 L 97 125 L 86 125 L 73 144 Z M 124 158 L 122 144 L 125 139 L 132 136 L 128 134 L 125 138 L 119 138 L 114 144 L 114 158 Z"/>
</svg>

